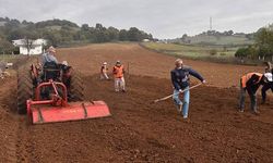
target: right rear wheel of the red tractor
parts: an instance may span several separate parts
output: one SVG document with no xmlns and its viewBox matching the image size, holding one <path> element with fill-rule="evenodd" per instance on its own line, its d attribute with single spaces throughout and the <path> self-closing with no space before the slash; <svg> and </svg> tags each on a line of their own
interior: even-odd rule
<svg viewBox="0 0 273 163">
<path fill-rule="evenodd" d="M 82 79 L 82 74 L 79 71 L 73 70 L 71 76 L 71 88 L 70 93 L 72 95 L 73 101 L 84 100 L 84 83 Z"/>
</svg>

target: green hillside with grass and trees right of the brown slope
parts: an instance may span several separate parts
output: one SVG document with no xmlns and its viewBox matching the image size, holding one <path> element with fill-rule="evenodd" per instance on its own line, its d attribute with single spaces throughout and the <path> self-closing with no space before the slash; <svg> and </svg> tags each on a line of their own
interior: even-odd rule
<svg viewBox="0 0 273 163">
<path fill-rule="evenodd" d="M 253 34 L 209 30 L 200 35 L 145 42 L 143 47 L 173 55 L 223 63 L 259 64 L 273 61 L 273 25 Z"/>
</svg>

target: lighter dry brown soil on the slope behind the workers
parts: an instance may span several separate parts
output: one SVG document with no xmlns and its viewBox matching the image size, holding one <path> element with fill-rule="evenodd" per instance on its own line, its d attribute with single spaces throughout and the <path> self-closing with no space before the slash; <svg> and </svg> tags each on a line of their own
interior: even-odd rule
<svg viewBox="0 0 273 163">
<path fill-rule="evenodd" d="M 121 60 L 130 74 L 145 75 L 159 78 L 169 78 L 174 68 L 174 57 L 147 51 L 135 43 L 104 43 L 81 48 L 66 48 L 59 50 L 60 61 L 67 60 L 85 74 L 99 72 L 100 64 L 108 62 L 111 66 Z M 185 64 L 200 72 L 209 85 L 217 87 L 232 87 L 238 85 L 238 78 L 249 72 L 263 72 L 263 67 L 210 63 L 185 60 Z"/>
</svg>

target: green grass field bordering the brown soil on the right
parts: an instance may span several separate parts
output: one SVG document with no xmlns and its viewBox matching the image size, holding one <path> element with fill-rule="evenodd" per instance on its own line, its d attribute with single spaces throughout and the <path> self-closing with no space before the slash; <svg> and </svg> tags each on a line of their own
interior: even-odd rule
<svg viewBox="0 0 273 163">
<path fill-rule="evenodd" d="M 159 42 L 142 42 L 141 46 L 168 55 L 182 57 L 191 60 L 246 65 L 259 65 L 262 63 L 250 59 L 244 59 L 244 61 L 241 61 L 240 59 L 235 58 L 235 52 L 240 46 L 225 47 Z M 212 54 L 212 51 L 215 51 L 215 53 Z"/>
</svg>

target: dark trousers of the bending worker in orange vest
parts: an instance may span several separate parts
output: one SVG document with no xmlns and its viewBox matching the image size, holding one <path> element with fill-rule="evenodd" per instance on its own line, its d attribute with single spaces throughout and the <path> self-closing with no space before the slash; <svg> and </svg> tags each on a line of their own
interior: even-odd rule
<svg viewBox="0 0 273 163">
<path fill-rule="evenodd" d="M 242 88 L 241 85 L 240 85 L 239 109 L 241 111 L 244 111 L 244 109 L 245 109 L 245 101 L 246 101 L 247 92 L 248 92 L 248 95 L 250 97 L 251 110 L 256 112 L 257 111 L 257 97 L 256 97 L 256 93 L 247 90 L 247 88 Z"/>
</svg>

